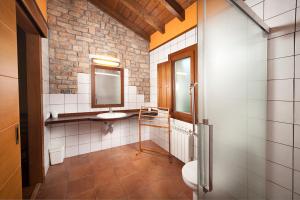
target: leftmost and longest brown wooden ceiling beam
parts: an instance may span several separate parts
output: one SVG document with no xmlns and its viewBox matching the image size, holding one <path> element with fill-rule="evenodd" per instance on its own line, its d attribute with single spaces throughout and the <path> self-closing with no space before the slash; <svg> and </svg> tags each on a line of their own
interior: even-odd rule
<svg viewBox="0 0 300 200">
<path fill-rule="evenodd" d="M 147 13 L 145 8 L 143 8 L 136 0 L 124 0 L 120 1 L 123 5 L 129 8 L 134 14 L 142 18 L 148 25 L 150 25 L 155 30 L 161 33 L 165 33 L 165 26 L 159 23 L 154 16 Z"/>
</svg>

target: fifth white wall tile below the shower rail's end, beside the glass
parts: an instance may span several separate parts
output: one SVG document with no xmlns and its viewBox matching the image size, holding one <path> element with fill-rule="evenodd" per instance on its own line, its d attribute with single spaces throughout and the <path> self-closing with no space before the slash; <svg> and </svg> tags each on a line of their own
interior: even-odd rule
<svg viewBox="0 0 300 200">
<path fill-rule="evenodd" d="M 269 121 L 267 140 L 292 146 L 293 125 Z"/>
</svg>

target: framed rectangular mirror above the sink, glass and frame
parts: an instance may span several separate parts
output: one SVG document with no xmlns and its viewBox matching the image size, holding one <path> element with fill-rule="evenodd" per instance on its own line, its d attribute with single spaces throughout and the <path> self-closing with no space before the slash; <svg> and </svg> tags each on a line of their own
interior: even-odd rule
<svg viewBox="0 0 300 200">
<path fill-rule="evenodd" d="M 124 69 L 92 65 L 92 108 L 124 106 Z"/>
</svg>

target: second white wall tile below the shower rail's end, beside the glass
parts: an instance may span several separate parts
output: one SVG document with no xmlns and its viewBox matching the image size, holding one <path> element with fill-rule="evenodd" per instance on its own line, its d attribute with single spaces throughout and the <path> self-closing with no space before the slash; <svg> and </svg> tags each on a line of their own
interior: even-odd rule
<svg viewBox="0 0 300 200">
<path fill-rule="evenodd" d="M 300 61 L 300 60 L 299 60 Z M 300 63 L 299 63 L 300 64 Z M 288 79 L 294 77 L 294 57 L 268 61 L 268 79 Z"/>
</svg>

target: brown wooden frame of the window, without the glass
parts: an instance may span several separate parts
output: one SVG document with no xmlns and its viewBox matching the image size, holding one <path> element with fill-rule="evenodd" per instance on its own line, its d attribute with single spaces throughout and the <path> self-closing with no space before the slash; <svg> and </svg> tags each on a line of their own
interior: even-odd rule
<svg viewBox="0 0 300 200">
<path fill-rule="evenodd" d="M 172 66 L 172 117 L 186 122 L 192 122 L 192 113 L 183 113 L 177 112 L 174 108 L 176 107 L 176 94 L 175 94 L 175 70 L 174 65 L 177 60 L 191 57 L 191 82 L 197 82 L 197 45 L 192 45 L 187 48 L 184 48 L 180 51 L 174 52 L 169 55 L 169 60 L 171 61 Z M 196 111 L 196 122 L 197 122 L 197 110 L 198 110 L 198 91 L 195 88 L 195 111 Z M 192 108 L 191 102 L 190 106 Z"/>
</svg>

